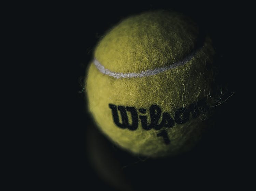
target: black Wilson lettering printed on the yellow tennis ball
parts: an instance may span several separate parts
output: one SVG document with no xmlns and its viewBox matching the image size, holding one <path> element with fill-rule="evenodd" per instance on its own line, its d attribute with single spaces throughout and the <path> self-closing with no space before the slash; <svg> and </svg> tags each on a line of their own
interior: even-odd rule
<svg viewBox="0 0 256 191">
<path fill-rule="evenodd" d="M 150 123 L 148 123 L 147 109 L 140 108 L 139 116 L 138 111 L 135 107 L 122 106 L 109 104 L 112 111 L 112 116 L 116 126 L 120 128 L 128 128 L 132 131 L 136 130 L 139 125 L 139 119 L 141 121 L 142 128 L 145 130 L 155 129 L 160 130 L 162 127 L 173 127 L 174 123 L 184 124 L 189 118 L 196 118 L 201 114 L 205 114 L 208 110 L 206 106 L 206 99 L 202 99 L 196 103 L 190 104 L 187 107 L 178 108 L 173 114 L 173 118 L 168 112 L 163 112 L 158 105 L 151 105 L 149 108 Z M 120 112 L 121 120 L 119 119 L 118 110 Z M 128 121 L 127 112 L 131 114 L 131 123 Z M 160 117 L 162 116 L 161 121 Z"/>
</svg>

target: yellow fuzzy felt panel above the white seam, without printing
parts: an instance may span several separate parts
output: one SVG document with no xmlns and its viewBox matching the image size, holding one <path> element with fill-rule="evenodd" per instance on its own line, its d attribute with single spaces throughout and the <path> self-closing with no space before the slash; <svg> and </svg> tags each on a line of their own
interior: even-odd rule
<svg viewBox="0 0 256 191">
<path fill-rule="evenodd" d="M 195 23 L 166 11 L 129 17 L 99 42 L 95 57 L 115 72 L 140 72 L 168 66 L 194 50 Z"/>
</svg>

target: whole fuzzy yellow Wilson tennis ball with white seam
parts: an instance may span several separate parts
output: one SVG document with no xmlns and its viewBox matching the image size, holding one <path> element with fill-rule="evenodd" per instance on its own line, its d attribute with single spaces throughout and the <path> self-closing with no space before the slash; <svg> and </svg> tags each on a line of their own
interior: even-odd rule
<svg viewBox="0 0 256 191">
<path fill-rule="evenodd" d="M 123 149 L 142 156 L 176 155 L 195 145 L 210 117 L 214 51 L 184 15 L 128 17 L 99 41 L 88 66 L 88 109 Z"/>
</svg>

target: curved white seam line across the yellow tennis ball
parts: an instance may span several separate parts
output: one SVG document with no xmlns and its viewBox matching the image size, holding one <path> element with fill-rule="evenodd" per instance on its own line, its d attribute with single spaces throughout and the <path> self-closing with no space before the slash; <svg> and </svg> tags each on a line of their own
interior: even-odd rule
<svg viewBox="0 0 256 191">
<path fill-rule="evenodd" d="M 140 73 L 118 73 L 118 72 L 112 72 L 109 69 L 106 69 L 103 65 L 100 64 L 100 62 L 94 58 L 94 65 L 96 68 L 103 74 L 115 77 L 115 78 L 132 78 L 132 77 L 145 77 L 145 76 L 150 76 L 150 75 L 155 75 L 161 72 L 164 72 L 169 69 L 176 68 L 178 66 L 185 65 L 187 62 L 191 60 L 191 58 L 195 55 L 195 52 L 192 54 L 188 55 L 184 60 L 177 61 L 173 63 L 172 65 L 161 67 L 161 68 L 156 68 L 154 70 L 145 70 Z"/>
</svg>

